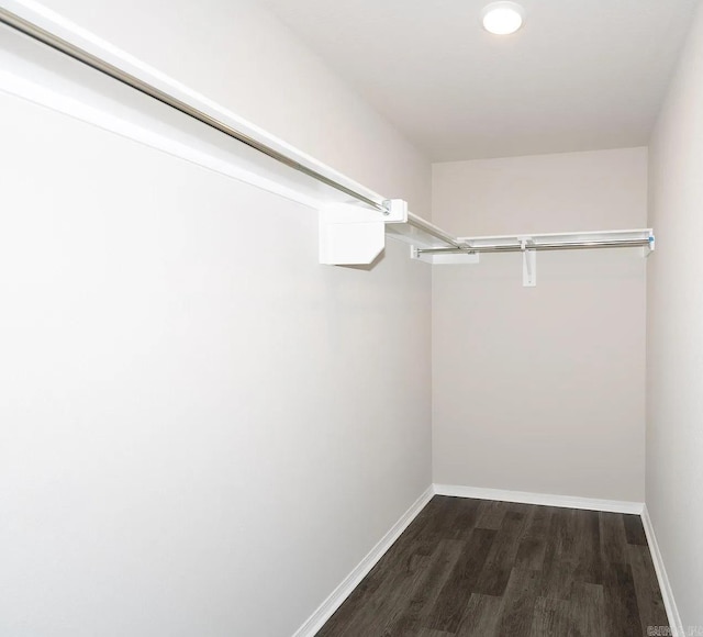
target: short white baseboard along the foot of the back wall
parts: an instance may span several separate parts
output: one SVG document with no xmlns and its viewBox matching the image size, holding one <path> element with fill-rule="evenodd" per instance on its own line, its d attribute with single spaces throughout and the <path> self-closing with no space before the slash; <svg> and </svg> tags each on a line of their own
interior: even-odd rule
<svg viewBox="0 0 703 637">
<path fill-rule="evenodd" d="M 503 502 L 520 502 L 522 504 L 542 504 L 545 506 L 563 506 L 566 509 L 587 509 L 589 511 L 607 511 L 610 513 L 634 513 L 641 515 L 645 506 L 641 502 L 620 502 L 617 500 L 554 495 L 550 493 L 528 493 L 527 491 L 504 491 L 502 489 L 483 489 L 480 487 L 460 487 L 456 484 L 435 484 L 434 488 L 437 495 L 499 500 Z"/>
</svg>

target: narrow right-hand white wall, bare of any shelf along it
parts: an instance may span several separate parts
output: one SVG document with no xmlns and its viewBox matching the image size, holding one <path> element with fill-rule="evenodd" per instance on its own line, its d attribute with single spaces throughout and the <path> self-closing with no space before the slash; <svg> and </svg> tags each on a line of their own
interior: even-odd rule
<svg viewBox="0 0 703 637">
<path fill-rule="evenodd" d="M 684 626 L 703 625 L 703 12 L 649 147 L 647 509 Z"/>
</svg>

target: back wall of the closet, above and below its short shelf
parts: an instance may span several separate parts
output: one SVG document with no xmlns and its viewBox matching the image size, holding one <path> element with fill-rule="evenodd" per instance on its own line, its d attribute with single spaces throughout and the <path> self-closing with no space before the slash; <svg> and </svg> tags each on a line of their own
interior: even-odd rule
<svg viewBox="0 0 703 637">
<path fill-rule="evenodd" d="M 646 222 L 647 150 L 434 166 L 433 212 L 458 235 Z M 645 260 L 539 253 L 433 268 L 434 480 L 644 500 Z"/>
</svg>

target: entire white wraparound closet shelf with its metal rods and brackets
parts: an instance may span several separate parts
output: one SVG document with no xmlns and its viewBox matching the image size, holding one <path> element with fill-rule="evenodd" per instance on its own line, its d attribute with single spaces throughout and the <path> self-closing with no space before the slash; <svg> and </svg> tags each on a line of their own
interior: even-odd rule
<svg viewBox="0 0 703 637">
<path fill-rule="evenodd" d="M 0 90 L 317 210 L 322 264 L 371 264 L 389 236 L 431 264 L 522 252 L 533 286 L 539 250 L 654 249 L 650 228 L 455 237 L 35 2 L 0 23 Z"/>
</svg>

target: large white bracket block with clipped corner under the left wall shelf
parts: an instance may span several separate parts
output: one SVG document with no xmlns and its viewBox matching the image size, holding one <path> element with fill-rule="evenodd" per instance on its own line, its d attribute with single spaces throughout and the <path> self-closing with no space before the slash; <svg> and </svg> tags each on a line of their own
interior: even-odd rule
<svg viewBox="0 0 703 637">
<path fill-rule="evenodd" d="M 386 224 L 408 222 L 408 202 L 389 199 L 384 211 L 349 203 L 320 210 L 320 262 L 328 266 L 372 264 L 386 247 Z"/>
</svg>

